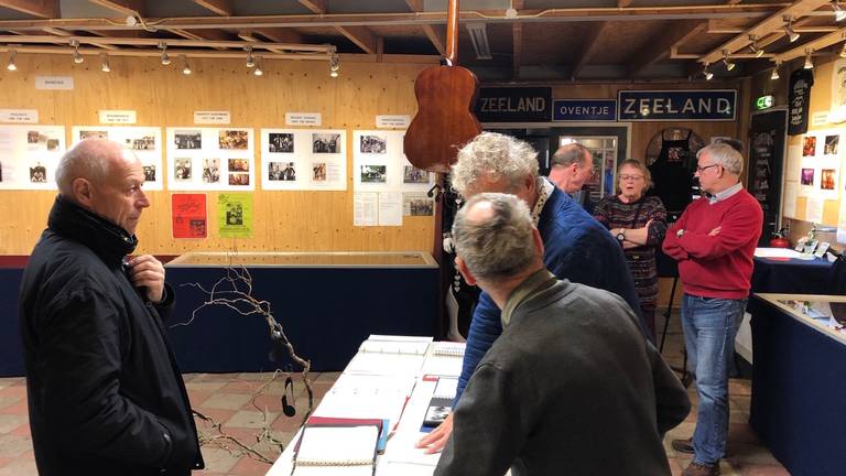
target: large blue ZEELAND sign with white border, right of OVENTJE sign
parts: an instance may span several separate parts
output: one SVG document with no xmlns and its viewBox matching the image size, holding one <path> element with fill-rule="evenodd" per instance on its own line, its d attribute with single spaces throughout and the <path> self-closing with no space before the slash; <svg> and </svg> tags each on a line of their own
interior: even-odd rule
<svg viewBox="0 0 846 476">
<path fill-rule="evenodd" d="M 737 91 L 621 90 L 618 93 L 619 120 L 735 120 Z"/>
</svg>

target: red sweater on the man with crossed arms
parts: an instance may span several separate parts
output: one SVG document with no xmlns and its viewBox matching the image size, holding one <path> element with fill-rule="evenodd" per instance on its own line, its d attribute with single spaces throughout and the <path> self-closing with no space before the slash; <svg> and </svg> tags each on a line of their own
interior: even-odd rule
<svg viewBox="0 0 846 476">
<path fill-rule="evenodd" d="M 762 224 L 761 206 L 746 188 L 714 205 L 706 197 L 690 204 L 666 231 L 663 244 L 664 252 L 679 261 L 684 292 L 703 298 L 747 298 Z M 708 236 L 717 227 L 719 232 Z M 676 235 L 680 229 L 684 229 L 681 238 Z"/>
</svg>

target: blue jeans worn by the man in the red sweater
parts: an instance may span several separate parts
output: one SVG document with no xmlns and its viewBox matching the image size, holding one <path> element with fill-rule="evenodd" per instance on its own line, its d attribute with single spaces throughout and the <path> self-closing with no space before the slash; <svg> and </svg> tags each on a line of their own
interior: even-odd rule
<svg viewBox="0 0 846 476">
<path fill-rule="evenodd" d="M 735 335 L 746 301 L 684 294 L 682 329 L 687 367 L 696 376 L 699 397 L 693 461 L 719 463 L 728 436 L 728 364 L 735 355 Z"/>
</svg>

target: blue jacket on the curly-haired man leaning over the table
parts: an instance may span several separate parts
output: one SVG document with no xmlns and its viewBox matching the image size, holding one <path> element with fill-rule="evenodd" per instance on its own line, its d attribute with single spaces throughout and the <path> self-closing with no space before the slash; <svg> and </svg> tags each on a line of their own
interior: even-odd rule
<svg viewBox="0 0 846 476">
<path fill-rule="evenodd" d="M 599 221 L 557 187 L 543 206 L 538 230 L 543 239 L 543 262 L 553 274 L 616 293 L 636 315 L 640 315 L 638 293 L 620 245 Z M 482 292 L 470 321 L 456 402 L 479 360 L 502 334 L 499 314 L 497 304 Z M 641 322 L 642 328 L 646 326 Z"/>
</svg>

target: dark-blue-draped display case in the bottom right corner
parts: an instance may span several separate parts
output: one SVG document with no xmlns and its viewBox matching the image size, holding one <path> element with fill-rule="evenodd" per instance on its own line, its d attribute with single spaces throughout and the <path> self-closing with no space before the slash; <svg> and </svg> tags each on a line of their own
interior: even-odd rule
<svg viewBox="0 0 846 476">
<path fill-rule="evenodd" d="M 749 422 L 793 476 L 842 476 L 846 468 L 846 334 L 780 302 L 846 296 L 752 298 Z"/>
</svg>

